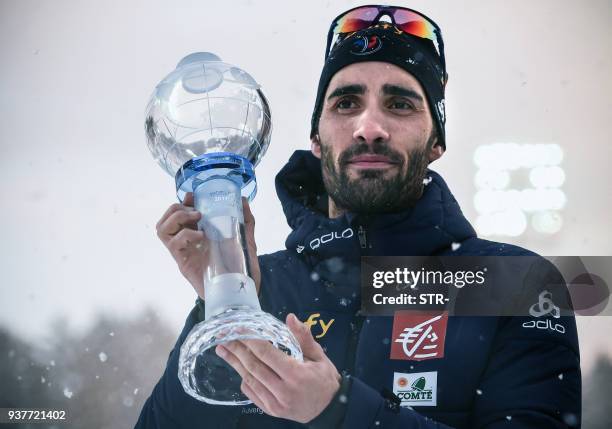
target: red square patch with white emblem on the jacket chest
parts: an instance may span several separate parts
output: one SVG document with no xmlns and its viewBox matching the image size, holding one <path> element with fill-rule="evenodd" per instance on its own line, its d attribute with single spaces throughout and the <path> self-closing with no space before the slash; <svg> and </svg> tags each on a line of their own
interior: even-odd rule
<svg viewBox="0 0 612 429">
<path fill-rule="evenodd" d="M 444 357 L 448 312 L 396 311 L 391 359 L 426 360 Z"/>
</svg>

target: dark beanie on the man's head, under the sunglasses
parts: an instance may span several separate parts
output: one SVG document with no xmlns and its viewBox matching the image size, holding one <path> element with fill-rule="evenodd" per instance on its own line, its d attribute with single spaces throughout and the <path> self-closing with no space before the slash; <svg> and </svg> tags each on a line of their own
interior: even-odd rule
<svg viewBox="0 0 612 429">
<path fill-rule="evenodd" d="M 444 85 L 447 76 L 442 61 L 431 40 L 401 32 L 389 24 L 379 24 L 355 32 L 332 49 L 325 60 L 319 79 L 310 138 L 313 138 L 319 131 L 323 100 L 331 78 L 340 69 L 365 61 L 395 64 L 419 81 L 425 91 L 429 110 L 438 131 L 438 143 L 446 150 Z"/>
</svg>

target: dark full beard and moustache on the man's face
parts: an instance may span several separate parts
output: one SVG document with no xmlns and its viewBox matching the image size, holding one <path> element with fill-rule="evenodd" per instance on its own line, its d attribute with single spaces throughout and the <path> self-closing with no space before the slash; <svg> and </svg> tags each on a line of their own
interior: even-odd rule
<svg viewBox="0 0 612 429">
<path fill-rule="evenodd" d="M 340 154 L 340 171 L 336 170 L 334 165 L 330 145 L 321 142 L 321 167 L 325 189 L 336 207 L 353 213 L 391 213 L 412 207 L 423 194 L 423 179 L 429 165 L 426 151 L 431 148 L 434 139 L 435 135 L 432 133 L 425 148 L 410 151 L 407 166 L 404 165 L 405 159 L 384 143 L 375 142 L 372 147 L 367 143 L 357 144 Z M 360 173 L 359 178 L 349 179 L 346 170 L 348 161 L 365 153 L 388 157 L 398 163 L 399 172 L 392 177 L 385 177 L 385 171 L 366 170 Z"/>
</svg>

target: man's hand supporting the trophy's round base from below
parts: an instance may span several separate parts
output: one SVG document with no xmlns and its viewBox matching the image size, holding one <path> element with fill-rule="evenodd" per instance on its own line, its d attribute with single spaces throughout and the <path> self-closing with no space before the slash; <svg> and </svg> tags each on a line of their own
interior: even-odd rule
<svg viewBox="0 0 612 429">
<path fill-rule="evenodd" d="M 263 340 L 232 341 L 217 354 L 242 377 L 242 392 L 266 414 L 307 423 L 317 417 L 340 388 L 340 374 L 294 314 L 287 326 L 297 338 L 304 362 Z"/>
</svg>

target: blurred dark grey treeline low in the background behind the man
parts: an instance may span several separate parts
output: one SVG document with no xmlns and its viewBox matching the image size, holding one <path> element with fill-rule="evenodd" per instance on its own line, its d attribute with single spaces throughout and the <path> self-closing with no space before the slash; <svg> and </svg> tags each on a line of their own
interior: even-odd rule
<svg viewBox="0 0 612 429">
<path fill-rule="evenodd" d="M 0 407 L 64 409 L 70 424 L 12 428 L 133 428 L 178 337 L 151 309 L 99 316 L 78 335 L 60 320 L 52 332 L 52 343 L 36 345 L 0 327 Z M 612 362 L 601 356 L 584 375 L 584 429 L 612 428 L 611 398 Z"/>
</svg>

